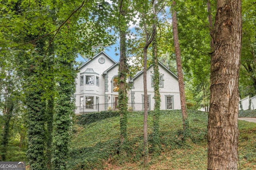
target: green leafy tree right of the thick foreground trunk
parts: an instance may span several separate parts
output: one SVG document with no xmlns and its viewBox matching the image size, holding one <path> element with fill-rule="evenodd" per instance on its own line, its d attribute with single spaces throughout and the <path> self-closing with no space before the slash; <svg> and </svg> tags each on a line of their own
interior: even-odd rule
<svg viewBox="0 0 256 170">
<path fill-rule="evenodd" d="M 242 50 L 239 92 L 242 98 L 256 95 L 256 5 L 253 0 L 242 1 Z"/>
</svg>

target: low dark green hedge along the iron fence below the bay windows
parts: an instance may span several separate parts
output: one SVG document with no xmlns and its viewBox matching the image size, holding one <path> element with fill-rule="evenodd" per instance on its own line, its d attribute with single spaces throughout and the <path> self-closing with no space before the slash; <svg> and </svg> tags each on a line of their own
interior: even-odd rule
<svg viewBox="0 0 256 170">
<path fill-rule="evenodd" d="M 78 115 L 76 119 L 77 119 L 78 125 L 88 125 L 90 123 L 107 119 L 110 117 L 115 117 L 118 115 L 119 115 L 118 111 L 101 111 L 101 112 L 87 113 L 84 115 Z"/>
</svg>

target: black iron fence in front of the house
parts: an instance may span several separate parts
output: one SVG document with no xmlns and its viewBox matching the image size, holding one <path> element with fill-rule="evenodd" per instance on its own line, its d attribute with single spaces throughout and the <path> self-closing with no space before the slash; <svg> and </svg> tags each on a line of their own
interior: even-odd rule
<svg viewBox="0 0 256 170">
<path fill-rule="evenodd" d="M 128 103 L 128 111 L 144 111 L 143 103 Z M 95 105 L 86 105 L 82 107 L 76 107 L 74 110 L 75 114 L 92 113 L 98 111 L 107 110 L 118 110 L 118 105 L 116 103 L 104 103 Z"/>
</svg>

